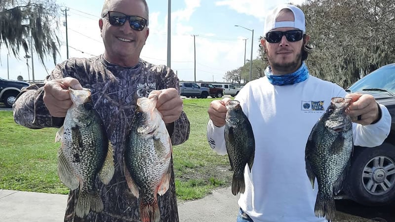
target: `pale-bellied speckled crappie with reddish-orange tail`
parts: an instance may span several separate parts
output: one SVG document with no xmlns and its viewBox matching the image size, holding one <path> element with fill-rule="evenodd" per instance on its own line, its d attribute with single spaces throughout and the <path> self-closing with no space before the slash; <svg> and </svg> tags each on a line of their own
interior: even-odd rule
<svg viewBox="0 0 395 222">
<path fill-rule="evenodd" d="M 158 95 L 138 98 L 131 130 L 126 139 L 125 177 L 131 193 L 140 198 L 143 222 L 159 222 L 157 194 L 169 188 L 172 146 L 170 136 L 156 109 Z"/>
</svg>

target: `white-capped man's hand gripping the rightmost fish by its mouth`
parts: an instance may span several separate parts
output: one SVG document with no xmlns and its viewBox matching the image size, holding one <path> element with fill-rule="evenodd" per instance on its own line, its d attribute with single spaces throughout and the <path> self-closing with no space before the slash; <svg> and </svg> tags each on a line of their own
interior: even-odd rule
<svg viewBox="0 0 395 222">
<path fill-rule="evenodd" d="M 353 100 L 347 110 L 353 122 L 369 125 L 380 118 L 380 107 L 372 95 L 350 93 L 346 98 Z"/>
</svg>

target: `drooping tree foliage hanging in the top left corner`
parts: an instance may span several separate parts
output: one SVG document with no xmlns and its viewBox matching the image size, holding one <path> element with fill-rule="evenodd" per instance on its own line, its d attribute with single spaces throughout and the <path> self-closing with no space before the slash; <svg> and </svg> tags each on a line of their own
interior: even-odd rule
<svg viewBox="0 0 395 222">
<path fill-rule="evenodd" d="M 33 41 L 41 63 L 49 54 L 56 64 L 58 10 L 53 0 L 0 0 L 0 48 L 11 49 L 18 58 L 21 47 L 32 52 L 28 43 Z"/>
</svg>

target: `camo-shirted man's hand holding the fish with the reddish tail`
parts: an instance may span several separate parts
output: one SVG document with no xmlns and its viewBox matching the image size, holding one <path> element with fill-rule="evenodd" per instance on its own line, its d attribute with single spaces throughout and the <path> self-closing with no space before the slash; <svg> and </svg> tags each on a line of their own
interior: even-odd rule
<svg viewBox="0 0 395 222">
<path fill-rule="evenodd" d="M 153 96 L 158 96 L 157 110 L 162 114 L 164 123 L 172 123 L 180 117 L 183 102 L 177 89 L 154 90 L 148 98 L 151 99 Z"/>
</svg>

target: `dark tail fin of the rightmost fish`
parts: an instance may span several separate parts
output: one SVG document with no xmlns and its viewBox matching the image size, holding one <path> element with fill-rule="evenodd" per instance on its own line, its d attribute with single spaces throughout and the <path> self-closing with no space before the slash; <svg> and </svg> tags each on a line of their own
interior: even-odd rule
<svg viewBox="0 0 395 222">
<path fill-rule="evenodd" d="M 317 193 L 316 205 L 314 207 L 314 213 L 316 217 L 325 217 L 328 222 L 331 222 L 335 219 L 336 216 L 336 205 L 335 200 L 333 199 L 333 195 L 322 198 Z"/>
</svg>

